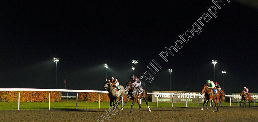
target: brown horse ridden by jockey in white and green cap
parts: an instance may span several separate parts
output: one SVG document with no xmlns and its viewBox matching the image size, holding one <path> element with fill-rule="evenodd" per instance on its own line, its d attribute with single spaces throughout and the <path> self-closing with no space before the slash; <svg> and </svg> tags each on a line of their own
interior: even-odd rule
<svg viewBox="0 0 258 122">
<path fill-rule="evenodd" d="M 216 89 L 217 90 L 217 89 Z M 221 96 L 221 93 L 218 92 L 216 95 L 214 95 L 214 92 L 212 89 L 208 88 L 207 84 L 202 84 L 202 87 L 201 87 L 201 95 L 204 94 L 204 103 L 202 105 L 202 108 L 201 110 L 203 110 L 203 107 L 204 107 L 204 104 L 206 103 L 206 100 L 208 100 L 207 102 L 207 105 L 206 105 L 206 110 L 208 109 L 208 103 L 209 101 L 213 100 L 214 103 L 215 103 L 215 106 L 214 106 L 214 110 L 213 112 L 215 111 L 215 108 L 217 107 L 217 111 L 219 111 L 219 108 L 218 108 L 218 102 L 220 100 L 220 96 Z"/>
</svg>

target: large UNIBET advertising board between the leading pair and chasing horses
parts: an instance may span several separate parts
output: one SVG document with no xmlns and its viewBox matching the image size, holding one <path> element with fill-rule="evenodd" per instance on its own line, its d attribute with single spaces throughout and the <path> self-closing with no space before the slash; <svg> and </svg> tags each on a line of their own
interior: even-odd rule
<svg viewBox="0 0 258 122">
<path fill-rule="evenodd" d="M 178 92 L 178 91 L 152 91 L 152 93 L 171 93 L 171 94 L 182 94 L 182 95 L 174 95 L 174 102 L 175 103 L 185 103 L 186 102 L 186 96 L 187 102 L 189 103 L 198 103 L 198 97 L 199 96 L 191 96 L 191 94 L 200 94 L 200 92 Z M 157 101 L 157 95 L 152 95 L 152 102 Z M 204 96 L 200 98 L 200 102 L 203 102 Z M 172 95 L 158 95 L 158 102 L 171 102 L 172 103 Z"/>
</svg>

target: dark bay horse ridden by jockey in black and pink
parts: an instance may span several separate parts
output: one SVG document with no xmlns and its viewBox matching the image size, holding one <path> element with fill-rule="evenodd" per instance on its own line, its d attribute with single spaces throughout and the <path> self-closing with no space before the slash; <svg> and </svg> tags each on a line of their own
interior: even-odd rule
<svg viewBox="0 0 258 122">
<path fill-rule="evenodd" d="M 125 101 L 121 110 L 123 110 L 125 104 L 129 100 L 133 100 L 133 103 L 131 105 L 130 113 L 132 112 L 135 101 L 137 101 L 137 103 L 139 104 L 139 112 L 140 112 L 140 109 L 141 109 L 140 99 L 143 98 L 146 102 L 146 105 L 148 106 L 149 111 L 151 112 L 151 109 L 150 109 L 149 104 L 148 104 L 147 91 L 144 88 L 142 88 L 142 89 L 143 89 L 143 92 L 141 94 L 139 94 L 139 92 L 136 91 L 136 87 L 134 85 L 132 85 L 131 81 L 128 81 L 126 83 L 126 89 L 125 89 L 125 92 L 127 92 L 127 99 L 126 99 L 126 101 Z"/>
</svg>

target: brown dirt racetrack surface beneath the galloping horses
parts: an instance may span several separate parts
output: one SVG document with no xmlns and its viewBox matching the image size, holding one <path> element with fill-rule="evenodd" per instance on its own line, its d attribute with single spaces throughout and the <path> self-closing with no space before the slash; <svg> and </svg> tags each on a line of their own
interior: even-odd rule
<svg viewBox="0 0 258 122">
<path fill-rule="evenodd" d="M 167 107 L 167 108 L 134 108 L 132 113 L 129 108 L 119 110 L 115 115 L 109 116 L 111 120 L 106 120 L 101 116 L 106 116 L 108 108 L 102 109 L 51 109 L 51 110 L 1 110 L 2 121 L 258 121 L 258 107 L 242 108 L 239 106 L 219 107 L 219 111 L 213 111 L 212 107 L 201 111 L 201 107 Z M 115 111 L 114 111 L 115 112 Z"/>
</svg>

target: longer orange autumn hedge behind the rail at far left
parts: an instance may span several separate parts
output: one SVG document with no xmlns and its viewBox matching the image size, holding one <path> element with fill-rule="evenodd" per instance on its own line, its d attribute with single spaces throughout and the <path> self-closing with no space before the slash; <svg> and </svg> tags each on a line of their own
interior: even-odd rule
<svg viewBox="0 0 258 122">
<path fill-rule="evenodd" d="M 19 91 L 0 91 L 0 101 L 18 102 Z M 50 102 L 61 102 L 62 92 L 50 92 Z M 47 91 L 21 91 L 20 102 L 48 102 Z"/>
</svg>

